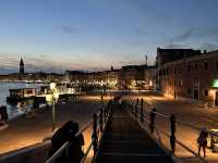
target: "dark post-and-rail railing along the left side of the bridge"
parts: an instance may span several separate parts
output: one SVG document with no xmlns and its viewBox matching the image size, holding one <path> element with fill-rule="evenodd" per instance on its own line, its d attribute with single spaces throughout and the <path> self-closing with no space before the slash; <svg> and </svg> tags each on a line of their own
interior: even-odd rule
<svg viewBox="0 0 218 163">
<path fill-rule="evenodd" d="M 99 108 L 99 110 L 97 111 L 97 113 L 95 113 L 93 115 L 93 120 L 90 122 L 88 122 L 84 127 L 82 127 L 80 129 L 80 131 L 77 131 L 75 134 L 75 138 L 78 138 L 85 130 L 87 130 L 88 128 L 92 128 L 92 141 L 87 146 L 86 151 L 84 151 L 84 155 L 81 160 L 81 163 L 84 163 L 92 150 L 93 147 L 93 161 L 95 161 L 97 151 L 98 151 L 98 147 L 99 143 L 101 141 L 101 136 L 105 131 L 105 128 L 109 122 L 109 118 L 111 116 L 111 101 L 108 102 L 107 105 L 102 105 Z M 66 141 L 52 156 L 50 156 L 46 163 L 53 163 L 63 152 L 68 151 L 69 146 L 71 146 L 71 141 Z M 71 156 L 71 155 L 69 155 Z"/>
</svg>

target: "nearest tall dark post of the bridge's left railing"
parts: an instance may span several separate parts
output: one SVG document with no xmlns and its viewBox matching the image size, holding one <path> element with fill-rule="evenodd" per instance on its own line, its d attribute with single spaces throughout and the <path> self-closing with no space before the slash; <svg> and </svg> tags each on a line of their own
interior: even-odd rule
<svg viewBox="0 0 218 163">
<path fill-rule="evenodd" d="M 97 150 L 98 150 L 98 135 L 97 135 L 97 115 L 93 115 L 93 135 L 92 135 L 92 142 L 93 142 L 93 151 L 94 155 L 93 158 L 95 159 Z"/>
</svg>

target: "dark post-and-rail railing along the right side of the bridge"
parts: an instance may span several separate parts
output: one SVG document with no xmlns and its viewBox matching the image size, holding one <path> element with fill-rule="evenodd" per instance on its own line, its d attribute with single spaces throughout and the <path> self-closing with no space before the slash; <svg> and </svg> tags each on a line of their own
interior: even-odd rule
<svg viewBox="0 0 218 163">
<path fill-rule="evenodd" d="M 182 140 L 179 140 L 175 137 L 175 128 L 179 128 L 179 125 L 182 125 L 195 131 L 195 135 L 192 135 L 192 137 L 194 138 L 193 142 L 196 142 L 196 139 L 198 137 L 198 135 L 197 137 L 195 137 L 196 133 L 198 134 L 202 130 L 199 127 L 196 127 L 190 123 L 183 122 L 177 118 L 177 116 L 173 114 L 171 115 L 161 114 L 157 112 L 153 105 L 147 104 L 143 99 L 141 100 L 137 99 L 134 102 L 123 101 L 123 105 L 128 110 L 128 112 L 141 124 L 141 126 L 150 133 L 150 135 L 158 141 L 158 143 L 161 147 L 164 147 L 165 149 L 168 149 L 169 153 L 172 153 L 175 158 L 185 159 L 177 154 L 175 147 L 178 146 L 184 149 L 184 151 L 186 151 L 191 155 L 194 155 L 201 162 L 206 162 L 205 158 L 202 158 L 201 155 L 198 155 L 197 149 L 192 149 L 186 143 L 182 142 Z M 147 109 L 145 108 L 145 105 L 147 106 Z M 168 125 L 169 129 L 162 129 L 160 126 L 158 126 L 158 121 L 159 123 L 162 123 L 162 121 L 167 122 L 167 124 L 169 124 Z M 145 124 L 148 124 L 148 125 L 145 125 Z M 215 133 L 211 133 L 211 131 L 208 131 L 208 135 L 217 136 Z M 162 137 L 165 138 L 167 137 L 168 139 L 167 143 L 169 143 L 170 147 L 168 147 L 168 145 L 166 143 L 166 139 L 165 139 L 165 142 L 162 142 L 162 139 L 161 139 Z M 179 150 L 178 150 L 178 153 L 179 153 Z"/>
</svg>

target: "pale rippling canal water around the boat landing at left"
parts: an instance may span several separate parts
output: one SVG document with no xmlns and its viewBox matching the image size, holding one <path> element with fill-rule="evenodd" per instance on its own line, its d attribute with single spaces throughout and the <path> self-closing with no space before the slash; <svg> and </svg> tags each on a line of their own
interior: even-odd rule
<svg viewBox="0 0 218 163">
<path fill-rule="evenodd" d="M 7 97 L 9 96 L 9 89 L 19 88 L 38 88 L 41 84 L 26 84 L 26 83 L 2 83 L 0 82 L 0 105 L 7 105 L 9 118 L 14 118 L 22 115 L 24 112 L 16 105 L 10 105 L 7 103 Z"/>
</svg>

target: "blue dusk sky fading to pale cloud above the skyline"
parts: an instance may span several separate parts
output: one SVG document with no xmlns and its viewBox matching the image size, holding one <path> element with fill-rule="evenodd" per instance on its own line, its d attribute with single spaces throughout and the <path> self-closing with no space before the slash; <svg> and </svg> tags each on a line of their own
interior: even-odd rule
<svg viewBox="0 0 218 163">
<path fill-rule="evenodd" d="M 217 0 L 1 0 L 0 74 L 154 64 L 157 47 L 218 49 Z"/>
</svg>

